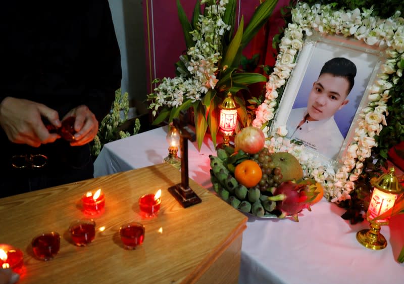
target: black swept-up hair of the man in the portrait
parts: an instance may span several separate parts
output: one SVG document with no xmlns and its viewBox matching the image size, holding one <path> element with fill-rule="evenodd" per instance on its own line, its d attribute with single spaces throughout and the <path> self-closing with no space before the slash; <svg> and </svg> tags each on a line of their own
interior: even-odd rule
<svg viewBox="0 0 404 284">
<path fill-rule="evenodd" d="M 349 82 L 348 93 L 354 87 L 355 76 L 357 75 L 357 67 L 354 62 L 343 57 L 334 57 L 327 61 L 323 68 L 321 68 L 320 75 L 323 73 L 330 73 L 334 76 L 344 77 Z"/>
</svg>

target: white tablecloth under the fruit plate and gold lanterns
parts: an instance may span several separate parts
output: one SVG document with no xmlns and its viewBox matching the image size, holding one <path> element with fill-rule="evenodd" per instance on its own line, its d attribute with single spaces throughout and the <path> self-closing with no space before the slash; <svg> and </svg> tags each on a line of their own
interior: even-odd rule
<svg viewBox="0 0 404 284">
<path fill-rule="evenodd" d="M 167 128 L 157 128 L 106 144 L 94 163 L 94 176 L 159 164 L 168 154 Z M 197 151 L 188 143 L 189 176 L 211 187 L 209 135 Z M 381 232 L 387 248 L 373 251 L 356 240 L 368 223 L 351 225 L 344 210 L 325 200 L 289 219 L 249 217 L 243 233 L 239 283 L 403 283 L 404 264 L 396 261 L 404 245 L 404 215 Z"/>
</svg>

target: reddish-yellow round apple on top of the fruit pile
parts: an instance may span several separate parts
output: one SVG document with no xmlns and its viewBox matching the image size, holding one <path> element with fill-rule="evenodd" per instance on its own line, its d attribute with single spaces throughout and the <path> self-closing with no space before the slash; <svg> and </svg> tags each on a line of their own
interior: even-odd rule
<svg viewBox="0 0 404 284">
<path fill-rule="evenodd" d="M 256 154 L 264 148 L 265 134 L 257 127 L 247 126 L 234 137 L 235 151 L 242 150 L 248 154 Z"/>
</svg>

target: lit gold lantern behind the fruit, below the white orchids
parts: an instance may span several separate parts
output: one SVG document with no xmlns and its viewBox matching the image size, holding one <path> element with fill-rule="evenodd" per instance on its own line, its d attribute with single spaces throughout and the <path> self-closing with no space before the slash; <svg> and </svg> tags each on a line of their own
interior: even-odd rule
<svg viewBox="0 0 404 284">
<path fill-rule="evenodd" d="M 227 97 L 223 100 L 222 104 L 219 105 L 219 127 L 223 133 L 223 143 L 218 145 L 217 148 L 230 146 L 230 136 L 233 135 L 237 125 L 237 109 L 239 106 L 234 102 L 231 96 L 231 92 L 228 92 Z"/>
</svg>

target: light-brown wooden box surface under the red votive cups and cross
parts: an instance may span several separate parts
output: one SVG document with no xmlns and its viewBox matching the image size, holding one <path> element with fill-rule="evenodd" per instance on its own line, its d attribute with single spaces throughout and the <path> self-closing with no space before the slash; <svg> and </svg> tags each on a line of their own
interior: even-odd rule
<svg viewBox="0 0 404 284">
<path fill-rule="evenodd" d="M 0 243 L 24 253 L 19 283 L 237 283 L 247 218 L 193 180 L 189 185 L 202 202 L 184 209 L 167 191 L 180 181 L 177 169 L 159 164 L 0 199 Z M 88 218 L 80 198 L 97 188 L 106 207 L 93 219 L 105 230 L 77 247 L 68 227 Z M 159 215 L 142 216 L 138 199 L 159 188 Z M 130 221 L 145 226 L 144 242 L 133 251 L 123 248 L 119 236 L 120 225 Z M 52 230 L 61 235 L 59 254 L 35 259 L 32 238 Z"/>
</svg>

